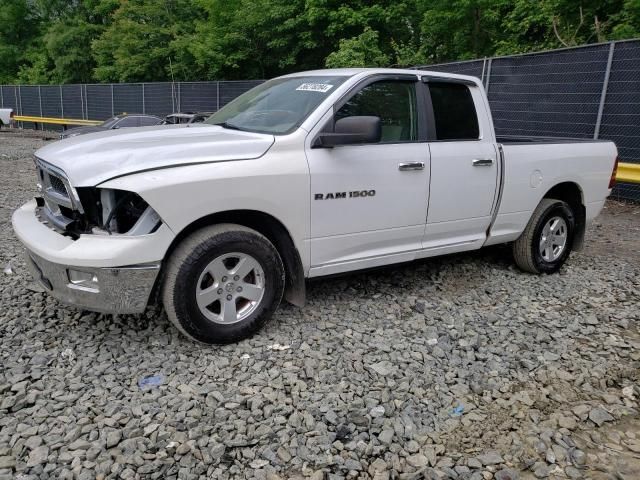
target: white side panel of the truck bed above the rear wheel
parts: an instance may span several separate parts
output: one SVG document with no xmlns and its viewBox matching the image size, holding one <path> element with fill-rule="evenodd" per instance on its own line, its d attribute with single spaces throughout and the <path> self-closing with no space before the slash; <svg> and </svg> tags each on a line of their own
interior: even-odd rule
<svg viewBox="0 0 640 480">
<path fill-rule="evenodd" d="M 600 213 L 610 193 L 613 143 L 505 144 L 503 149 L 504 190 L 487 245 L 518 238 L 540 200 L 563 182 L 580 188 L 587 221 Z"/>
</svg>

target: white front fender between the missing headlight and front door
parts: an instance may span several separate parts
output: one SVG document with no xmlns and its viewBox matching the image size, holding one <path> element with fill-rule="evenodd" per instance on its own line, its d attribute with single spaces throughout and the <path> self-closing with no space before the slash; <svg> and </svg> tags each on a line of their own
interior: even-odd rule
<svg viewBox="0 0 640 480">
<path fill-rule="evenodd" d="M 292 148 L 304 136 L 306 132 L 281 137 L 260 158 L 140 172 L 101 187 L 136 191 L 176 233 L 217 212 L 266 213 L 282 222 L 308 266 L 309 170 L 304 152 Z"/>
</svg>

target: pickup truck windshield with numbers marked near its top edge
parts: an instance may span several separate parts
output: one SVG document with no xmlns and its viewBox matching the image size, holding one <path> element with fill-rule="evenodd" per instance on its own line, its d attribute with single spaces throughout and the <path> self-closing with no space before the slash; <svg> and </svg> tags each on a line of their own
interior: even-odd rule
<svg viewBox="0 0 640 480">
<path fill-rule="evenodd" d="M 290 133 L 347 78 L 302 76 L 269 80 L 225 105 L 206 123 L 259 133 Z"/>
</svg>

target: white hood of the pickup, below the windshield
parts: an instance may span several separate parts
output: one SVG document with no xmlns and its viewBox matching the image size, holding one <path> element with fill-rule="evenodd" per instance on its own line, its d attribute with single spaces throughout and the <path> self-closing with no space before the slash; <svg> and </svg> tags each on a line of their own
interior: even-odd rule
<svg viewBox="0 0 640 480">
<path fill-rule="evenodd" d="M 273 142 L 273 135 L 216 125 L 159 125 L 71 137 L 39 149 L 36 157 L 81 187 L 156 168 L 258 158 Z"/>
</svg>

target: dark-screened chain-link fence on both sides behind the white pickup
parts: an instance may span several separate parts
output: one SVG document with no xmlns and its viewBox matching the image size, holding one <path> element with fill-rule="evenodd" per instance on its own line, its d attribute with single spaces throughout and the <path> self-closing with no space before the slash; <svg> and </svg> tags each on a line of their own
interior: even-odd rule
<svg viewBox="0 0 640 480">
<path fill-rule="evenodd" d="M 420 67 L 483 80 L 499 135 L 604 138 L 640 163 L 640 40 Z M 18 115 L 104 120 L 115 114 L 215 112 L 262 80 L 0 86 Z M 640 200 L 640 185 L 613 195 Z"/>
</svg>

